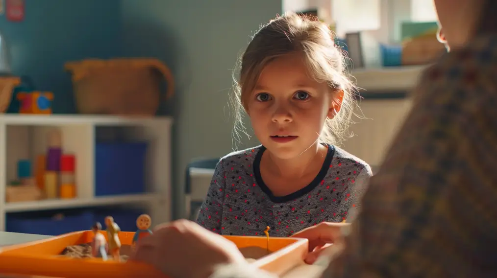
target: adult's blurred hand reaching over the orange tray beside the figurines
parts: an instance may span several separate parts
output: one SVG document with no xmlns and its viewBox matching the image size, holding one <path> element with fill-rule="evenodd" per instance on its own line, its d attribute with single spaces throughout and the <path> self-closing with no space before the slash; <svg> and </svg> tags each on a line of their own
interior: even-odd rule
<svg viewBox="0 0 497 278">
<path fill-rule="evenodd" d="M 184 219 L 140 239 L 129 260 L 153 265 L 171 278 L 208 278 L 223 264 L 248 266 L 233 242 Z"/>
</svg>

